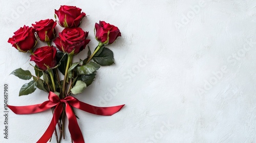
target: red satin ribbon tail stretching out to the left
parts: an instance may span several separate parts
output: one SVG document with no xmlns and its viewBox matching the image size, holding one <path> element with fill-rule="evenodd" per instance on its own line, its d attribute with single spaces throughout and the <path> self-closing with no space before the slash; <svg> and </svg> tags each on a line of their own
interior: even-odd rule
<svg viewBox="0 0 256 143">
<path fill-rule="evenodd" d="M 45 101 L 42 104 L 28 105 L 28 106 L 11 106 L 8 105 L 9 109 L 11 109 L 15 114 L 32 114 L 45 111 L 55 106 L 56 103 L 51 101 Z"/>
</svg>

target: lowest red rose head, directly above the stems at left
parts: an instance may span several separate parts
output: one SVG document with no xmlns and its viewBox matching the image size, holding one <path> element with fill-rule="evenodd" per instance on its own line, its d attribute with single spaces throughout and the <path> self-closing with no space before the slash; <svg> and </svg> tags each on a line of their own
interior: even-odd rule
<svg viewBox="0 0 256 143">
<path fill-rule="evenodd" d="M 57 65 L 56 53 L 57 50 L 54 46 L 42 46 L 35 50 L 34 55 L 30 56 L 30 61 L 34 61 L 40 69 L 47 70 L 47 68 Z"/>
</svg>

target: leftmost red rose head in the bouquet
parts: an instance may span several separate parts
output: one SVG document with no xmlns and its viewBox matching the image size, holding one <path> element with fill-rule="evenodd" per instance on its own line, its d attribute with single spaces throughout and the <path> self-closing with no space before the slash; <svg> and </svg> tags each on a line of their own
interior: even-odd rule
<svg viewBox="0 0 256 143">
<path fill-rule="evenodd" d="M 12 44 L 18 51 L 27 52 L 32 50 L 36 45 L 34 29 L 32 27 L 24 26 L 14 32 L 14 35 L 9 38 L 8 42 Z"/>
</svg>

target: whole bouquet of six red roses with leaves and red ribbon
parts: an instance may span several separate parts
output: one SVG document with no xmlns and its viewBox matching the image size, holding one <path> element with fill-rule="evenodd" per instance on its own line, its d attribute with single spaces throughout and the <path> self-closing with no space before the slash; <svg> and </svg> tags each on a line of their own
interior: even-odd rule
<svg viewBox="0 0 256 143">
<path fill-rule="evenodd" d="M 34 66 L 35 75 L 22 68 L 11 73 L 23 80 L 32 79 L 20 88 L 19 96 L 30 94 L 36 88 L 49 93 L 49 100 L 41 104 L 8 105 L 16 114 L 31 114 L 52 109 L 52 121 L 37 142 L 47 142 L 54 132 L 57 142 L 61 142 L 62 138 L 65 139 L 66 116 L 69 121 L 68 127 L 72 141 L 84 142 L 73 108 L 98 115 L 112 115 L 124 106 L 97 107 L 81 102 L 74 97 L 94 81 L 96 70 L 100 66 L 114 63 L 113 52 L 105 45 L 113 43 L 117 37 L 121 36 L 117 27 L 104 21 L 95 23 L 95 38 L 99 44 L 94 52 L 91 52 L 88 47 L 88 55 L 84 59 L 73 62 L 73 57 L 85 49 L 90 42 L 90 39 L 87 39 L 88 32 L 79 28 L 82 18 L 85 16 L 86 13 L 81 12 L 80 8 L 61 6 L 59 10 L 55 10 L 55 19 L 58 17 L 58 20 L 40 20 L 32 24 L 33 27 L 24 26 L 14 32 L 14 35 L 8 40 L 18 51 L 30 52 L 30 61 L 35 63 L 35 65 L 31 64 Z M 64 28 L 58 35 L 55 30 L 56 21 Z M 47 45 L 35 49 L 37 39 L 47 43 Z M 52 45 L 52 41 L 55 46 Z M 63 74 L 62 80 L 59 74 Z M 56 127 L 58 127 L 59 132 L 57 132 Z"/>
</svg>

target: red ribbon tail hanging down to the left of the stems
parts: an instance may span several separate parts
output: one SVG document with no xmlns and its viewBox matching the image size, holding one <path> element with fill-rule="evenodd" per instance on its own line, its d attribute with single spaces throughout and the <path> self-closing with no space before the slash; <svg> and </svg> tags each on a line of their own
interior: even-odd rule
<svg viewBox="0 0 256 143">
<path fill-rule="evenodd" d="M 52 137 L 52 134 L 55 130 L 56 124 L 58 123 L 58 120 L 62 113 L 62 110 L 63 110 L 62 104 L 57 104 L 57 106 L 54 110 L 52 121 L 51 121 L 50 125 L 48 126 L 46 132 L 37 141 L 37 143 L 45 143 Z"/>
</svg>

